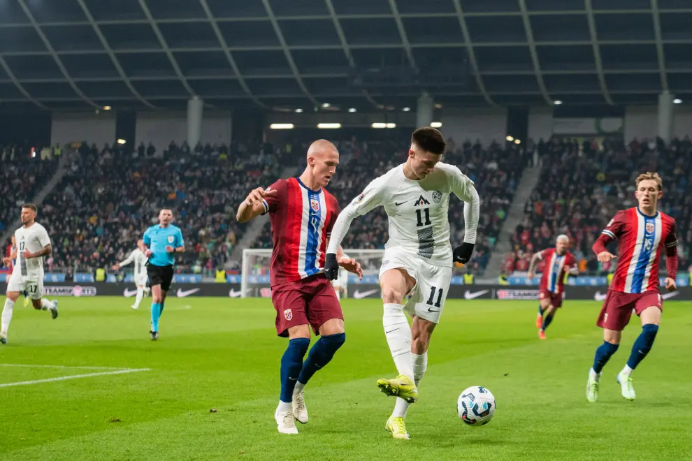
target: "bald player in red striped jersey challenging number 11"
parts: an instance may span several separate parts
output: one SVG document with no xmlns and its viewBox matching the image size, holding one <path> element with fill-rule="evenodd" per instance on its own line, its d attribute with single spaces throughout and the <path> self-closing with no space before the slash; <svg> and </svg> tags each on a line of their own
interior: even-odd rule
<svg viewBox="0 0 692 461">
<path fill-rule="evenodd" d="M 281 434 L 298 434 L 295 420 L 308 422 L 305 384 L 346 340 L 341 306 L 323 273 L 326 246 L 339 214 L 336 198 L 324 187 L 336 172 L 339 152 L 331 142 L 317 140 L 308 149 L 307 163 L 300 177 L 252 190 L 236 214 L 241 223 L 266 213 L 271 219 L 271 300 L 277 335 L 289 338 L 281 358 L 281 393 L 274 414 Z M 337 261 L 363 276 L 360 265 L 344 256 L 341 248 Z M 303 362 L 310 328 L 320 338 Z"/>
</svg>

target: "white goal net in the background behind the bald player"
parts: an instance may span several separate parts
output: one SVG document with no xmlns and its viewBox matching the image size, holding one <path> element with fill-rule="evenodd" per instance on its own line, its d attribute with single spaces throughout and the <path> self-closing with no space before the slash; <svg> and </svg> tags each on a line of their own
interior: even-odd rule
<svg viewBox="0 0 692 461">
<path fill-rule="evenodd" d="M 384 249 L 347 249 L 345 253 L 361 263 L 363 280 L 349 274 L 349 284 L 377 285 Z M 271 294 L 269 270 L 271 249 L 244 249 L 240 268 L 240 291 L 243 298 L 268 298 Z M 342 269 L 343 270 L 343 269 Z"/>
</svg>

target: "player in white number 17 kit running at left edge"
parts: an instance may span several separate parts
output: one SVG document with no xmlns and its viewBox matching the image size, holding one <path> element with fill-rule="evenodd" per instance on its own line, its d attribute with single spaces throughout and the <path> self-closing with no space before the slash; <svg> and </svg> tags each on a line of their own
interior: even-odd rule
<svg viewBox="0 0 692 461">
<path fill-rule="evenodd" d="M 31 298 L 34 309 L 48 310 L 53 319 L 57 318 L 57 300 L 49 301 L 43 296 L 43 256 L 48 256 L 52 251 L 50 237 L 45 227 L 36 222 L 36 205 L 25 203 L 22 205 L 23 226 L 15 231 L 17 248 L 15 253 L 3 259 L 5 265 L 16 258 L 10 280 L 7 283 L 7 298 L 2 309 L 0 325 L 0 343 L 6 344 L 7 330 L 12 320 L 12 312 L 15 301 L 20 293 L 26 290 Z"/>
</svg>

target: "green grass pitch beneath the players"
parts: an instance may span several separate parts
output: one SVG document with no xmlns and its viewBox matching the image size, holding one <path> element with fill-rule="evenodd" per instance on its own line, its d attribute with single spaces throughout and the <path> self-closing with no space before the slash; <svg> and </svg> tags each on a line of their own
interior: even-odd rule
<svg viewBox="0 0 692 461">
<path fill-rule="evenodd" d="M 0 460 L 692 459 L 692 303 L 665 305 L 633 374 L 635 402 L 614 378 L 640 332 L 633 321 L 588 404 L 598 303 L 565 302 L 540 342 L 535 302 L 449 301 L 408 414 L 412 440 L 394 441 L 384 431 L 394 400 L 375 386 L 396 372 L 380 302 L 344 302 L 347 342 L 308 383 L 310 423 L 291 437 L 273 420 L 286 343 L 268 300 L 168 300 L 159 342 L 148 301 L 135 312 L 124 298 L 64 298 L 56 321 L 15 306 L 0 385 L 103 374 L 1 386 Z M 456 416 L 472 385 L 497 399 L 484 427 Z"/>
</svg>

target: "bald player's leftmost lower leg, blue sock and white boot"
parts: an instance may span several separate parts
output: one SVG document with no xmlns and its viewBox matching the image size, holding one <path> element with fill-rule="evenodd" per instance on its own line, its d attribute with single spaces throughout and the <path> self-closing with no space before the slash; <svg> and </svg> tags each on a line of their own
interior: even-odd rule
<svg viewBox="0 0 692 461">
<path fill-rule="evenodd" d="M 274 411 L 274 420 L 280 434 L 298 434 L 293 412 L 293 397 L 298 376 L 303 369 L 303 356 L 310 345 L 310 325 L 291 327 L 288 334 L 289 344 L 281 358 L 281 395 Z"/>
</svg>

